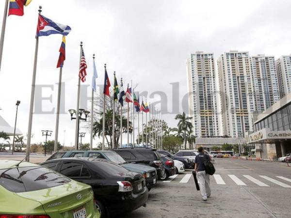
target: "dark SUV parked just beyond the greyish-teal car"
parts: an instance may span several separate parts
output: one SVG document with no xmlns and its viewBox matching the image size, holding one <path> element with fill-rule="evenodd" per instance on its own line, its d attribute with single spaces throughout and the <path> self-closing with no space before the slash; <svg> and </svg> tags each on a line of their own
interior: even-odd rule
<svg viewBox="0 0 291 218">
<path fill-rule="evenodd" d="M 129 163 L 146 164 L 154 167 L 157 170 L 158 177 L 161 178 L 165 173 L 165 168 L 162 165 L 162 157 L 157 152 L 157 149 L 152 148 L 117 148 L 112 149 Z"/>
</svg>

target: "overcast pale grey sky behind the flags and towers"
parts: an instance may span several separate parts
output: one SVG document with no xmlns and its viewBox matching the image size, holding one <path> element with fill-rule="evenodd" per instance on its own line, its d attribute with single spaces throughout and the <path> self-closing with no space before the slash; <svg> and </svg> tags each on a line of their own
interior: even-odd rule
<svg viewBox="0 0 291 218">
<path fill-rule="evenodd" d="M 33 0 L 24 16 L 7 18 L 2 66 L 0 71 L 0 115 L 14 125 L 16 100 L 17 127 L 26 135 L 32 84 L 32 67 L 38 6 L 54 22 L 72 28 L 66 37 L 65 111 L 76 108 L 80 41 L 88 63 L 87 92 L 90 97 L 92 54 L 96 54 L 97 84 L 103 84 L 104 63 L 113 83 L 113 71 L 125 84 L 132 79 L 137 90 L 148 92 L 147 101 L 160 101 L 163 92 L 167 107 L 163 117 L 175 126 L 174 116 L 182 112 L 187 93 L 186 58 L 195 51 L 214 52 L 215 59 L 229 50 L 249 51 L 250 55 L 291 53 L 291 1 L 280 0 Z M 4 0 L 0 1 L 3 13 Z M 2 23 L 2 14 L 0 15 Z M 36 85 L 42 96 L 52 102 L 35 102 L 43 111 L 56 107 L 61 35 L 40 37 Z M 173 102 L 173 84 L 179 98 Z M 38 89 L 37 89 L 38 90 Z M 85 96 L 85 95 L 84 95 Z M 146 97 L 146 96 L 145 96 Z M 174 105 L 174 106 L 173 106 Z M 177 108 L 178 106 L 178 108 Z M 85 107 L 83 105 L 83 107 Z M 90 108 L 90 101 L 87 102 Z M 156 106 L 158 109 L 161 105 Z M 173 111 L 174 107 L 174 111 Z M 186 111 L 187 112 L 187 111 Z M 43 141 L 41 130 L 55 130 L 55 114 L 34 114 L 32 143 Z M 59 141 L 74 143 L 75 122 L 68 113 L 60 116 Z M 89 142 L 88 132 L 83 142 Z M 53 136 L 50 138 L 54 139 Z M 97 143 L 97 140 L 95 141 Z"/>
</svg>

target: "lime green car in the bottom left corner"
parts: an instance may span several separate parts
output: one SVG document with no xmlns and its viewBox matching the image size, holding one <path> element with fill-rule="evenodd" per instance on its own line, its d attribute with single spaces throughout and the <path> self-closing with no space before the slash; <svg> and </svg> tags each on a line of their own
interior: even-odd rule
<svg viewBox="0 0 291 218">
<path fill-rule="evenodd" d="M 99 218 L 92 188 L 45 167 L 0 160 L 0 218 Z"/>
</svg>

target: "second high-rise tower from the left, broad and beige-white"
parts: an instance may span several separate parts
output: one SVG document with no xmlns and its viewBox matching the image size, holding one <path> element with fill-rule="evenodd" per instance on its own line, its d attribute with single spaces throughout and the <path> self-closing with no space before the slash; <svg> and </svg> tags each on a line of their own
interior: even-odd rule
<svg viewBox="0 0 291 218">
<path fill-rule="evenodd" d="M 244 137 L 253 130 L 252 66 L 248 52 L 230 51 L 217 61 L 221 90 L 223 135 Z"/>
</svg>

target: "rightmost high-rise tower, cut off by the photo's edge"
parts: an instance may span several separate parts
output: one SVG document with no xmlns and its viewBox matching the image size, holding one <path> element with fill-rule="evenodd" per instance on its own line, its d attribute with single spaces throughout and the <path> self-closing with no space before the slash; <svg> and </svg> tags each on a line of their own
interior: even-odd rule
<svg viewBox="0 0 291 218">
<path fill-rule="evenodd" d="M 276 60 L 281 98 L 291 93 L 291 55 L 283 55 Z"/>
</svg>

